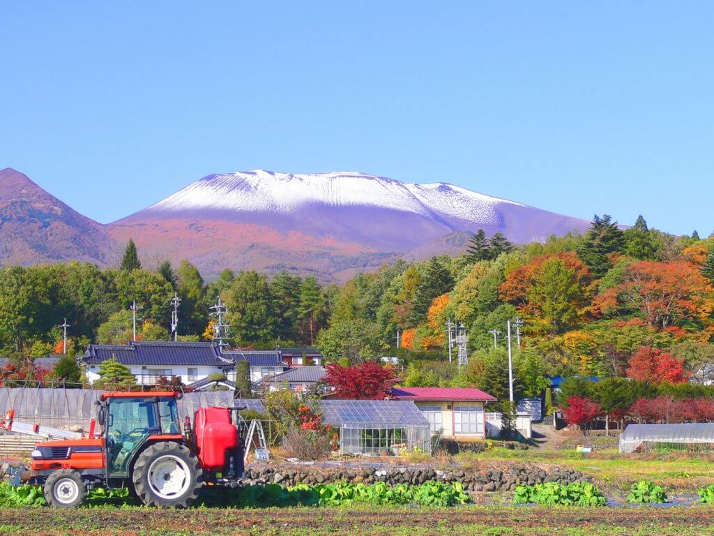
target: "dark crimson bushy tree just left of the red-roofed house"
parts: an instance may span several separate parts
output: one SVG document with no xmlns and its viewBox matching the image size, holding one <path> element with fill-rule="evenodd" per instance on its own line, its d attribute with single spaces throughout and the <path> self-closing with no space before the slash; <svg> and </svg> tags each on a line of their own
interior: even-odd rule
<svg viewBox="0 0 714 536">
<path fill-rule="evenodd" d="M 381 400 L 388 396 L 395 381 L 394 370 L 376 361 L 366 361 L 351 367 L 330 363 L 326 367 L 325 383 L 331 385 L 338 398 Z"/>
</svg>

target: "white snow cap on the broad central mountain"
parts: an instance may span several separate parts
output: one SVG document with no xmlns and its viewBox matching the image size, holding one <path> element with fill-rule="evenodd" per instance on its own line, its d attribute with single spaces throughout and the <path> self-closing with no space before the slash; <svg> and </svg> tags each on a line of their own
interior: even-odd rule
<svg viewBox="0 0 714 536">
<path fill-rule="evenodd" d="M 499 204 L 520 205 L 444 182 L 404 183 L 361 172 L 291 174 L 254 169 L 209 175 L 147 210 L 218 209 L 286 214 L 310 204 L 376 207 L 453 217 L 476 224 L 495 223 Z"/>
</svg>

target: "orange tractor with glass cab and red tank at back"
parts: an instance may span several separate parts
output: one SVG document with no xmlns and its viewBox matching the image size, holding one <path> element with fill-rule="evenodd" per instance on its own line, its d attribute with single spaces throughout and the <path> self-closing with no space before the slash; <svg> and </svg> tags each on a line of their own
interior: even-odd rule
<svg viewBox="0 0 714 536">
<path fill-rule="evenodd" d="M 94 486 L 128 487 L 145 505 L 179 508 L 196 500 L 203 485 L 236 487 L 243 476 L 242 408 L 201 407 L 193 427 L 186 417 L 182 431 L 179 397 L 175 392 L 102 394 L 97 402 L 101 434 L 95 435 L 93 422 L 89 437 L 38 443 L 30 480 L 44 485 L 54 507 L 81 505 Z"/>
</svg>

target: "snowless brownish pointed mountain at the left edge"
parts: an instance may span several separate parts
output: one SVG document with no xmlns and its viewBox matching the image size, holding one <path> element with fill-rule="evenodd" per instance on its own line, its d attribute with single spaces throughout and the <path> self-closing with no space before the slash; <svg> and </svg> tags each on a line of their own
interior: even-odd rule
<svg viewBox="0 0 714 536">
<path fill-rule="evenodd" d="M 116 243 L 104 227 L 48 194 L 26 175 L 0 170 L 0 264 L 76 259 L 107 266 Z"/>
</svg>

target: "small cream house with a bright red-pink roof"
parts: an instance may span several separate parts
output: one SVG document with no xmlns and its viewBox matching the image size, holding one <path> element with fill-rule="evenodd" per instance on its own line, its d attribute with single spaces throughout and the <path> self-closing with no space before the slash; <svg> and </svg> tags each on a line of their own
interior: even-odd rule
<svg viewBox="0 0 714 536">
<path fill-rule="evenodd" d="M 473 387 L 393 387 L 396 400 L 412 400 L 431 426 L 431 432 L 457 440 L 486 439 L 486 402 L 491 394 Z"/>
</svg>

